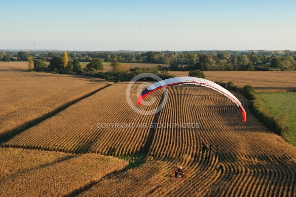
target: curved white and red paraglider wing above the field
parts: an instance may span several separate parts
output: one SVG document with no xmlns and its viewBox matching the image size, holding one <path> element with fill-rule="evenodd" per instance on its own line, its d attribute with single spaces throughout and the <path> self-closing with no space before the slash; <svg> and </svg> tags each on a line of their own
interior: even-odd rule
<svg viewBox="0 0 296 197">
<path fill-rule="evenodd" d="M 138 97 L 138 104 L 141 105 L 143 99 L 156 90 L 169 87 L 169 86 L 176 86 L 180 84 L 193 84 L 193 85 L 204 86 L 204 87 L 216 90 L 217 92 L 223 94 L 227 98 L 231 99 L 240 108 L 243 115 L 244 122 L 246 122 L 246 119 L 247 119 L 246 111 L 243 105 L 241 104 L 241 102 L 233 94 L 231 94 L 228 90 L 226 90 L 225 88 L 219 86 L 218 84 L 212 81 L 202 79 L 202 78 L 197 78 L 197 77 L 186 77 L 186 76 L 174 77 L 174 78 L 169 78 L 169 79 L 165 79 L 157 83 L 154 83 L 148 86 L 145 90 L 143 90 L 141 95 Z"/>
</svg>

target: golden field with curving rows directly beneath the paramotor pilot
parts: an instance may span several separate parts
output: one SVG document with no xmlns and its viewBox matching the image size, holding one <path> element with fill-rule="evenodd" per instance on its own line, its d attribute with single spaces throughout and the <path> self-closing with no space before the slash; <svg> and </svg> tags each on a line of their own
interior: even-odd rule
<svg viewBox="0 0 296 197">
<path fill-rule="evenodd" d="M 246 108 L 246 123 L 238 107 L 213 90 L 170 87 L 158 123 L 200 128 L 157 129 L 144 164 L 79 196 L 296 196 L 296 148 L 268 132 L 249 101 L 234 94 Z M 189 170 L 182 181 L 172 177 L 176 160 Z"/>
</svg>

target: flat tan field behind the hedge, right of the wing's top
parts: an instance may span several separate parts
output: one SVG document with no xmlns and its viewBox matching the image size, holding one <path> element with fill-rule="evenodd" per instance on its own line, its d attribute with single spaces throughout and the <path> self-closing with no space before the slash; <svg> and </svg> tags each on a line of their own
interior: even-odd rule
<svg viewBox="0 0 296 197">
<path fill-rule="evenodd" d="M 188 76 L 188 71 L 170 71 L 176 76 Z M 296 71 L 205 71 L 206 79 L 210 81 L 232 81 L 235 85 L 251 85 L 258 92 L 266 89 L 273 92 L 281 90 L 296 90 Z"/>
</svg>

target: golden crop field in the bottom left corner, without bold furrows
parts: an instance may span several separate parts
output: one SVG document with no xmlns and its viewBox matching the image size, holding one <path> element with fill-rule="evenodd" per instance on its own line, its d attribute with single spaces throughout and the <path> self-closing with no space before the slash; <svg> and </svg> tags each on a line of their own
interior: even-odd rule
<svg viewBox="0 0 296 197">
<path fill-rule="evenodd" d="M 1 196 L 73 196 L 128 163 L 98 154 L 0 149 Z"/>
</svg>

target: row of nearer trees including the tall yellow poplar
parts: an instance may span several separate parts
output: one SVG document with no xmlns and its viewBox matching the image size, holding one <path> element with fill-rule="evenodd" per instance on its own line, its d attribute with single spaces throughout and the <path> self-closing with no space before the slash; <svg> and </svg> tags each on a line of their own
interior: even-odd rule
<svg viewBox="0 0 296 197">
<path fill-rule="evenodd" d="M 83 73 L 87 76 L 99 77 L 102 79 L 112 80 L 115 82 L 130 81 L 133 77 L 141 73 L 154 73 L 160 76 L 162 79 L 174 77 L 170 75 L 167 70 L 160 71 L 157 67 L 148 68 L 129 68 L 129 66 L 113 61 L 111 63 L 113 69 L 111 71 L 103 72 L 103 62 L 101 58 L 92 58 L 90 62 L 82 68 L 80 62 L 77 59 L 68 57 L 66 51 L 61 56 L 54 56 L 50 59 L 49 64 L 41 59 L 28 57 L 28 67 L 31 71 L 37 72 L 50 72 L 55 74 L 75 74 Z M 153 79 L 146 79 L 153 80 Z"/>
</svg>

